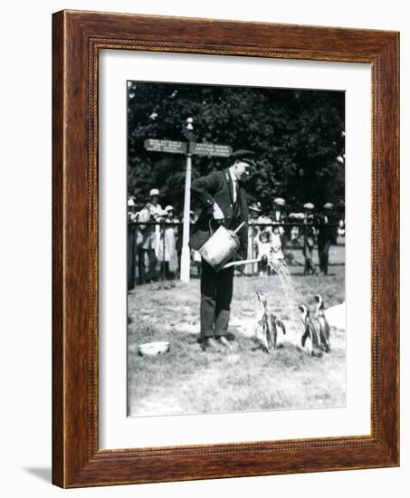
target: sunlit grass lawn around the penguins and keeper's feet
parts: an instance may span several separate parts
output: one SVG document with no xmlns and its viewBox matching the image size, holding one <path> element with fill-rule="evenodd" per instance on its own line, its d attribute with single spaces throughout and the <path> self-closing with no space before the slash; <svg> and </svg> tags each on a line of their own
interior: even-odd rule
<svg viewBox="0 0 410 498">
<path fill-rule="evenodd" d="M 327 277 L 291 269 L 292 281 L 313 310 L 313 294 L 326 306 L 345 300 L 344 266 Z M 271 310 L 284 321 L 271 355 L 253 340 L 259 305 L 256 291 L 268 296 Z M 176 282 L 172 289 L 149 283 L 129 292 L 129 416 L 182 415 L 267 409 L 342 407 L 346 399 L 345 331 L 331 330 L 331 352 L 312 358 L 300 347 L 296 302 L 286 299 L 280 279 L 235 277 L 230 321 L 233 351 L 204 352 L 199 333 L 199 280 Z M 138 355 L 138 344 L 168 340 L 170 350 L 157 357 Z"/>
</svg>

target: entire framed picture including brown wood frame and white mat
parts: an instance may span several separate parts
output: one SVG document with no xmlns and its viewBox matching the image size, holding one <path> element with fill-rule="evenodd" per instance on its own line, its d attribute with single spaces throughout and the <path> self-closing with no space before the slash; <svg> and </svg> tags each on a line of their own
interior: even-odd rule
<svg viewBox="0 0 410 498">
<path fill-rule="evenodd" d="M 52 26 L 53 484 L 398 465 L 398 34 Z"/>
</svg>

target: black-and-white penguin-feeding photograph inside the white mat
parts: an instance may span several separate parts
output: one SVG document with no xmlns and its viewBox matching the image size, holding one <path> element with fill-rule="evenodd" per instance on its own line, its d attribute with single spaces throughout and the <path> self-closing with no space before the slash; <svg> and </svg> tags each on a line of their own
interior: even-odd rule
<svg viewBox="0 0 410 498">
<path fill-rule="evenodd" d="M 345 92 L 127 106 L 128 416 L 345 407 Z"/>
</svg>

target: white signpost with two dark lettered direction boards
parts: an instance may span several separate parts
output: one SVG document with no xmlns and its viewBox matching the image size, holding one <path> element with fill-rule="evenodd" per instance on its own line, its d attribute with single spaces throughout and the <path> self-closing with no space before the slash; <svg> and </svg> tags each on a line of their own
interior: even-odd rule
<svg viewBox="0 0 410 498">
<path fill-rule="evenodd" d="M 192 131 L 192 118 L 188 118 L 188 125 L 183 130 L 188 142 L 178 142 L 174 140 L 146 139 L 144 148 L 152 152 L 166 152 L 169 154 L 186 155 L 186 178 L 185 178 L 185 195 L 184 195 L 184 225 L 182 235 L 182 253 L 181 253 L 181 281 L 189 282 L 190 273 L 190 250 L 189 250 L 189 224 L 191 210 L 191 173 L 192 173 L 192 156 L 219 156 L 229 158 L 232 154 L 232 148 L 228 145 L 219 145 L 213 143 L 195 142 L 195 135 Z"/>
</svg>

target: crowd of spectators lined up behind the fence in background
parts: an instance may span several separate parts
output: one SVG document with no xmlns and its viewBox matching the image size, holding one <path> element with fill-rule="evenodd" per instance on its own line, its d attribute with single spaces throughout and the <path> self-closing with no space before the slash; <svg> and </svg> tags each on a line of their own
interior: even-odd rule
<svg viewBox="0 0 410 498">
<path fill-rule="evenodd" d="M 155 282 L 158 279 L 174 280 L 178 276 L 182 251 L 182 218 L 175 208 L 159 204 L 159 191 L 149 192 L 148 202 L 135 197 L 128 199 L 128 287 Z M 304 274 L 328 274 L 329 248 L 337 244 L 338 236 L 345 235 L 344 219 L 334 214 L 333 205 L 326 203 L 319 209 L 306 203 L 300 212 L 288 212 L 286 201 L 276 197 L 272 211 L 263 212 L 261 203 L 249 206 L 248 260 L 258 262 L 239 266 L 243 275 L 268 276 L 269 260 L 284 264 L 300 264 L 295 249 L 304 257 Z M 196 216 L 190 213 L 190 223 Z M 315 247 L 319 254 L 319 270 L 313 263 Z M 191 251 L 191 268 L 196 276 L 201 272 L 201 256 Z"/>
</svg>

